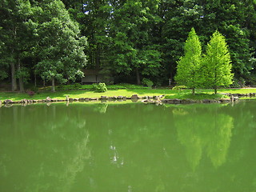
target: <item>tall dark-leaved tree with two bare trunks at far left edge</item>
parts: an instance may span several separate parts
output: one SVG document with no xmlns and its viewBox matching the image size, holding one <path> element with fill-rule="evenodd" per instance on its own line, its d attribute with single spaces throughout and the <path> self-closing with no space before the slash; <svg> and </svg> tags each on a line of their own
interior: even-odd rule
<svg viewBox="0 0 256 192">
<path fill-rule="evenodd" d="M 29 57 L 33 42 L 31 42 L 30 17 L 32 14 L 28 0 L 3 0 L 0 2 L 0 65 L 2 68 L 10 66 L 11 90 L 19 89 L 24 92 L 24 80 L 29 78 L 26 58 Z M 2 75 L 1 75 L 2 74 Z M 7 73 L 0 73 L 6 78 Z"/>
</svg>

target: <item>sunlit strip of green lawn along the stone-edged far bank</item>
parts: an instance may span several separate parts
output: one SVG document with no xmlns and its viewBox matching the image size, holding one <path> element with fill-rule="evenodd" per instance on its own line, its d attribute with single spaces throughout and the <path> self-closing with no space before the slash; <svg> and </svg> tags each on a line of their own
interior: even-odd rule
<svg viewBox="0 0 256 192">
<path fill-rule="evenodd" d="M 215 99 L 220 98 L 220 93 L 232 93 L 232 94 L 248 94 L 256 93 L 256 89 L 222 89 L 218 90 L 218 94 L 214 94 L 214 90 L 196 90 L 196 95 L 191 94 L 191 90 L 178 90 L 171 89 L 126 89 L 126 90 L 107 90 L 105 93 L 95 93 L 92 90 L 58 90 L 54 93 L 50 91 L 42 91 L 39 94 L 34 94 L 30 97 L 28 94 L 21 94 L 16 92 L 0 92 L 0 100 L 10 99 L 13 101 L 27 99 L 45 99 L 46 97 L 65 99 L 66 95 L 70 98 L 100 98 L 101 96 L 126 96 L 130 97 L 133 94 L 139 96 L 154 96 L 166 94 L 167 98 L 190 98 L 190 99 Z"/>
</svg>

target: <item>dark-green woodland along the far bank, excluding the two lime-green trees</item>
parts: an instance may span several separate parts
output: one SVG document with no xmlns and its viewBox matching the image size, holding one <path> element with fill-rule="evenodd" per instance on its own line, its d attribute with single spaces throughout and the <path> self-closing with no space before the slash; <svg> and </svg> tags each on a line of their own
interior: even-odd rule
<svg viewBox="0 0 256 192">
<path fill-rule="evenodd" d="M 256 84 L 255 0 L 2 0 L 0 79 L 11 90 L 96 69 L 106 83 L 174 81 L 194 27 L 206 50 L 226 38 L 234 87 Z"/>
</svg>

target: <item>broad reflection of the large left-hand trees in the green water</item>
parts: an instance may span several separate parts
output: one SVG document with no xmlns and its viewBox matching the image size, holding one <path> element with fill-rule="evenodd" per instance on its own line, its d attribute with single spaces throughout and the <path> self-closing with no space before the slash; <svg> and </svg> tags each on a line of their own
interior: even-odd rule
<svg viewBox="0 0 256 192">
<path fill-rule="evenodd" d="M 0 169 L 7 173 L 0 174 L 0 186 L 12 180 L 16 190 L 8 191 L 70 191 L 90 158 L 86 119 L 72 109 L 56 110 L 54 105 L 24 109 L 15 106 L 14 113 L 6 111 L 2 117 L 15 121 L 11 122 L 14 129 L 3 127 L 0 137 L 1 145 L 6 146 L 1 151 Z"/>
</svg>

